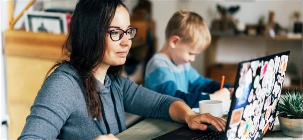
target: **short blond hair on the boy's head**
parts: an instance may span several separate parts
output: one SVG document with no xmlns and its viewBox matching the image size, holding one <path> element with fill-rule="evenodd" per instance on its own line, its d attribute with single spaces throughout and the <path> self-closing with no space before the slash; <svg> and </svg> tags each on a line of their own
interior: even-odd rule
<svg viewBox="0 0 303 140">
<path fill-rule="evenodd" d="M 195 12 L 179 10 L 169 19 L 165 29 L 165 39 L 181 37 L 182 42 L 193 42 L 198 46 L 208 46 L 211 35 L 203 18 Z"/>
</svg>

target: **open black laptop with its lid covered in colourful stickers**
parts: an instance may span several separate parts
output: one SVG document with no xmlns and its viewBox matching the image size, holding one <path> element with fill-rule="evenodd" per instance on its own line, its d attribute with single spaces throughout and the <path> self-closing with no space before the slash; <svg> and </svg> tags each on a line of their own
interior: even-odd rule
<svg viewBox="0 0 303 140">
<path fill-rule="evenodd" d="M 178 128 L 155 139 L 262 139 L 274 126 L 290 51 L 238 64 L 225 132 Z"/>
</svg>

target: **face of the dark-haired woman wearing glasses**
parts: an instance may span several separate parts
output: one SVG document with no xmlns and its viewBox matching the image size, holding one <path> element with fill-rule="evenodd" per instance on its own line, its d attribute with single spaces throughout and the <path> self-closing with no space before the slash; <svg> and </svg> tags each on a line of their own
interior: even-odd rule
<svg viewBox="0 0 303 140">
<path fill-rule="evenodd" d="M 116 9 L 115 16 L 109 26 L 108 31 L 113 29 L 122 29 L 125 31 L 129 28 L 130 20 L 128 11 L 120 5 Z M 107 33 L 106 48 L 102 63 L 110 66 L 123 65 L 131 46 L 132 40 L 128 39 L 125 33 L 123 34 L 122 39 L 119 41 L 113 41 L 110 34 Z"/>
</svg>

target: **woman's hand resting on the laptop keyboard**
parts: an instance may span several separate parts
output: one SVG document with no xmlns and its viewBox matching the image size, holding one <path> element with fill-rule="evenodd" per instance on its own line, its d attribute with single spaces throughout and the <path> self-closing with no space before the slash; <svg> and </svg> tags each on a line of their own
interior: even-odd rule
<svg viewBox="0 0 303 140">
<path fill-rule="evenodd" d="M 203 123 L 208 123 L 215 126 L 218 131 L 225 131 L 226 120 L 212 116 L 209 113 L 187 115 L 185 121 L 192 130 L 204 131 L 207 129 L 207 125 Z"/>
</svg>

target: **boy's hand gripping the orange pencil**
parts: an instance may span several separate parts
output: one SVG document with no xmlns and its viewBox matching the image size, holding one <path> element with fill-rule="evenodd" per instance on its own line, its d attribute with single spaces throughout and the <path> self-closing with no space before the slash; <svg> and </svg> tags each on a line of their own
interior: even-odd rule
<svg viewBox="0 0 303 140">
<path fill-rule="evenodd" d="M 211 100 L 219 100 L 223 103 L 228 103 L 231 98 L 231 92 L 227 88 L 222 88 L 221 90 L 218 90 L 213 94 L 209 94 L 209 97 Z"/>
</svg>

